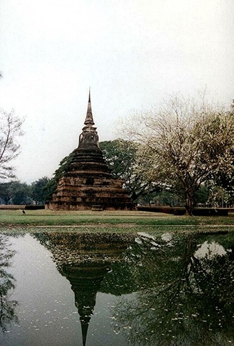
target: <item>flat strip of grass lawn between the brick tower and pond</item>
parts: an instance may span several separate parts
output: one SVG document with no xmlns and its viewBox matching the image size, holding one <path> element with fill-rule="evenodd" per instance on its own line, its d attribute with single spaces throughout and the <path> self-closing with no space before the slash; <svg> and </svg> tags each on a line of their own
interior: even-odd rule
<svg viewBox="0 0 234 346">
<path fill-rule="evenodd" d="M 102 211 L 54 212 L 51 210 L 0 210 L 4 226 L 97 226 L 127 228 L 144 226 L 226 226 L 234 230 L 234 213 L 228 217 L 188 217 L 156 212 Z"/>
</svg>

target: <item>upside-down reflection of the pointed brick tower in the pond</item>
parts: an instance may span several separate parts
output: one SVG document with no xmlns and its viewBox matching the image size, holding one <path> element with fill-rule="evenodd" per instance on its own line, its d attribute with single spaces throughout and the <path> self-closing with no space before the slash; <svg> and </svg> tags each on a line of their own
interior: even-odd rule
<svg viewBox="0 0 234 346">
<path fill-rule="evenodd" d="M 60 273 L 69 280 L 75 293 L 86 344 L 89 321 L 96 305 L 96 294 L 111 264 L 123 261 L 123 251 L 133 235 L 104 233 L 37 233 L 37 239 L 48 248 Z"/>
</svg>

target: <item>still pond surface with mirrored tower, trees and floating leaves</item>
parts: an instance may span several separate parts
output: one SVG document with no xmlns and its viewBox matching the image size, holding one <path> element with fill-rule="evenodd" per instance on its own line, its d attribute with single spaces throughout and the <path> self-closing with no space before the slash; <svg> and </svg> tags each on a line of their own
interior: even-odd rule
<svg viewBox="0 0 234 346">
<path fill-rule="evenodd" d="M 0 345 L 234 345 L 234 233 L 1 233 Z"/>
</svg>

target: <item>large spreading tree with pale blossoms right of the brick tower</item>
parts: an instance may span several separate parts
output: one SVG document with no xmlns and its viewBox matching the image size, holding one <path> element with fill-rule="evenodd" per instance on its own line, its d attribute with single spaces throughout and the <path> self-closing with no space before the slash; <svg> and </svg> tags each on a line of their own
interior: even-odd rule
<svg viewBox="0 0 234 346">
<path fill-rule="evenodd" d="M 201 183 L 233 172 L 233 112 L 210 107 L 204 100 L 172 98 L 157 110 L 134 115 L 128 134 L 143 145 L 138 150 L 142 174 L 173 188 L 192 215 Z"/>
</svg>

